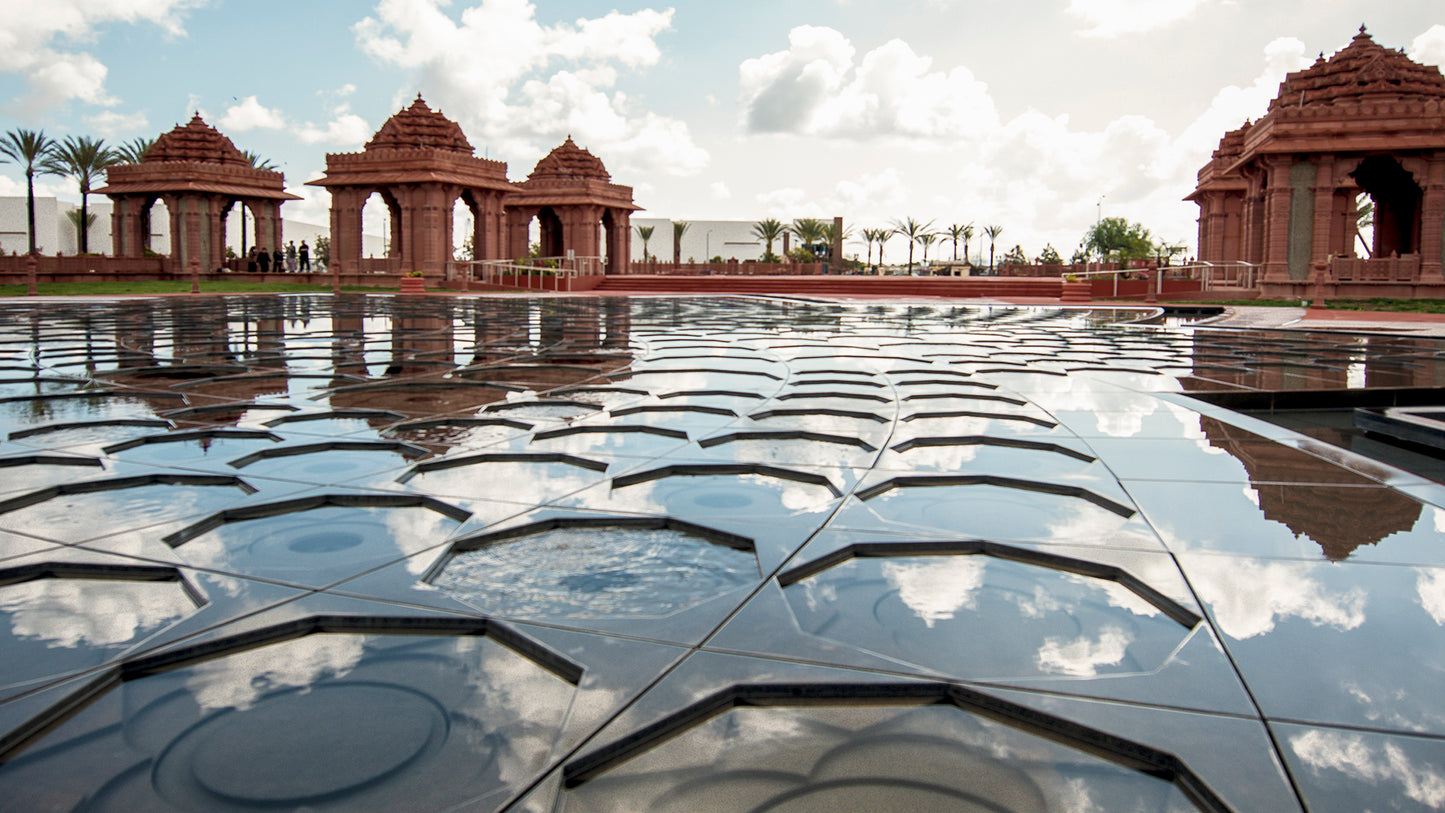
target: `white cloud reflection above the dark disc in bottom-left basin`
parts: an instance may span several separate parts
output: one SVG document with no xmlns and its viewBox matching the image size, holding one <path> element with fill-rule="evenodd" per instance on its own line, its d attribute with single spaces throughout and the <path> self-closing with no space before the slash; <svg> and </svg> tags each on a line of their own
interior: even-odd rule
<svg viewBox="0 0 1445 813">
<path fill-rule="evenodd" d="M 314 634 L 202 661 L 189 669 L 185 684 L 202 709 L 249 709 L 272 692 L 347 674 L 363 650 L 360 635 Z"/>
</svg>

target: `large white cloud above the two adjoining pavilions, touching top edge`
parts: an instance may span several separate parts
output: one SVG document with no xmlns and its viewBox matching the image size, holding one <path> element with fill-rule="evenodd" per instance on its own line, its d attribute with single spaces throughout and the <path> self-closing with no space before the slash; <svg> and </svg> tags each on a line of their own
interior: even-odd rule
<svg viewBox="0 0 1445 813">
<path fill-rule="evenodd" d="M 480 149 L 525 162 L 571 134 L 618 176 L 688 175 L 707 165 L 685 123 L 642 113 L 613 90 L 617 66 L 646 69 L 662 59 L 656 39 L 672 27 L 672 10 L 543 26 L 526 0 L 483 0 L 460 20 L 442 6 L 381 0 L 354 30 L 376 59 L 416 71 L 431 105 L 445 107 Z"/>
</svg>

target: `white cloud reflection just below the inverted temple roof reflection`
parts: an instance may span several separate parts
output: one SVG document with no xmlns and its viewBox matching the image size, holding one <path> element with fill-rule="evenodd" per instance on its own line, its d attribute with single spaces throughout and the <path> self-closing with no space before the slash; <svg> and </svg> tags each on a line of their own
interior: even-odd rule
<svg viewBox="0 0 1445 813">
<path fill-rule="evenodd" d="M 1328 594 L 1309 572 L 1311 566 L 1302 562 L 1238 556 L 1199 556 L 1189 562 L 1194 588 L 1214 611 L 1220 631 L 1231 638 L 1263 635 L 1287 617 L 1338 630 L 1364 624 L 1364 589 Z"/>
</svg>

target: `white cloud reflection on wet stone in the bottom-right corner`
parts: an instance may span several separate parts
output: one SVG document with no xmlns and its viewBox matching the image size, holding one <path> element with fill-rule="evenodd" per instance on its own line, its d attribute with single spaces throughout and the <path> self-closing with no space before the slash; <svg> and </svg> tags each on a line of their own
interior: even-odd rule
<svg viewBox="0 0 1445 813">
<path fill-rule="evenodd" d="M 1416 767 L 1393 742 L 1374 747 L 1363 734 L 1311 729 L 1290 736 L 1289 747 L 1316 773 L 1337 771 L 1373 786 L 1397 783 L 1412 800 L 1435 810 L 1445 807 L 1445 777 L 1431 765 Z"/>
</svg>

